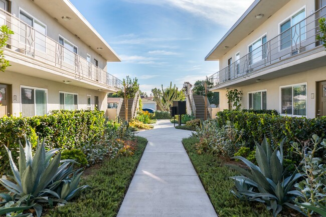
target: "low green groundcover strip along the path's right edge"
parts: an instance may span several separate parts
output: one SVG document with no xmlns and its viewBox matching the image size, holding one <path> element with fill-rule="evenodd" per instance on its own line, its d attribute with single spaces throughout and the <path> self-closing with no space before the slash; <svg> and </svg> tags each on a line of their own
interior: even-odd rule
<svg viewBox="0 0 326 217">
<path fill-rule="evenodd" d="M 193 137 L 184 138 L 183 144 L 219 217 L 272 217 L 263 203 L 240 201 L 230 193 L 234 181 L 229 177 L 238 173 L 225 166 L 225 160 L 217 156 L 199 155 L 194 146 L 198 141 Z M 290 212 L 293 212 L 293 215 L 289 214 Z M 278 215 L 278 217 L 293 216 L 302 215 L 289 209 Z"/>
</svg>

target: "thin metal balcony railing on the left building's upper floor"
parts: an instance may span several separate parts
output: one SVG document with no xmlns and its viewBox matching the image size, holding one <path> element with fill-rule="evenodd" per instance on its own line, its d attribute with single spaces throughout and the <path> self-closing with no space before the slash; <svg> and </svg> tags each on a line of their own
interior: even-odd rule
<svg viewBox="0 0 326 217">
<path fill-rule="evenodd" d="M 121 80 L 76 54 L 74 46 L 61 45 L 40 32 L 42 30 L 38 31 L 2 9 L 0 9 L 0 25 L 7 25 L 15 32 L 14 35 L 10 35 L 7 50 L 31 57 L 42 64 L 57 67 L 64 70 L 67 75 L 74 76 L 75 79 L 91 80 L 108 88 L 121 89 Z"/>
</svg>

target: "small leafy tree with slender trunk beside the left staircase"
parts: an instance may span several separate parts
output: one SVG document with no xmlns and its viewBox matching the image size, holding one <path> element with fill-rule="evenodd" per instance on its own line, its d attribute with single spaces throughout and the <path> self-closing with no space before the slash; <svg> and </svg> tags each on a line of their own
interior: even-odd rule
<svg viewBox="0 0 326 217">
<path fill-rule="evenodd" d="M 136 93 L 139 91 L 139 84 L 137 78 L 134 78 L 131 81 L 129 76 L 122 81 L 123 88 L 117 92 L 120 98 L 124 99 L 124 117 L 125 120 L 128 121 L 128 99 L 134 98 Z"/>
</svg>

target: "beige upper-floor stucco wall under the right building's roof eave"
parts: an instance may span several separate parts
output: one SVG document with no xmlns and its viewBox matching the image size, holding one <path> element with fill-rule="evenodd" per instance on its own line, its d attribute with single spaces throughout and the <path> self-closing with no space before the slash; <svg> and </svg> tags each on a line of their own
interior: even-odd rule
<svg viewBox="0 0 326 217">
<path fill-rule="evenodd" d="M 240 43 L 232 48 L 228 53 L 220 59 L 220 70 L 228 66 L 228 60 L 232 58 L 235 62 L 236 53 L 240 52 L 240 58 L 248 54 L 248 46 L 257 41 L 260 37 L 267 34 L 267 41 L 279 35 L 279 25 L 290 16 L 305 7 L 305 15 L 308 17 L 315 9 L 315 1 L 313 0 L 292 0 L 272 15 L 259 28 L 254 30 L 250 35 L 246 36 Z"/>
</svg>

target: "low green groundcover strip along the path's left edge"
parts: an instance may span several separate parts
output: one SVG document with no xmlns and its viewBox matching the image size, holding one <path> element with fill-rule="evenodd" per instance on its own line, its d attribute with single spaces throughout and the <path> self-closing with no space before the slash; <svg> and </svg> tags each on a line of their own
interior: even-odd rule
<svg viewBox="0 0 326 217">
<path fill-rule="evenodd" d="M 94 166 L 86 170 L 88 174 L 83 175 L 81 185 L 88 184 L 91 188 L 65 206 L 48 210 L 45 216 L 116 216 L 147 144 L 145 138 L 136 139 L 137 149 L 133 156 L 107 159 L 98 168 Z"/>
</svg>

